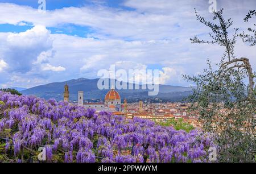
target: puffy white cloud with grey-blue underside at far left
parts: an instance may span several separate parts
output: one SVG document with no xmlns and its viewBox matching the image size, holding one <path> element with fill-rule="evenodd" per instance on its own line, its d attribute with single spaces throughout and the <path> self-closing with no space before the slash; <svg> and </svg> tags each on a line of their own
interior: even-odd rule
<svg viewBox="0 0 256 174">
<path fill-rule="evenodd" d="M 31 71 L 34 61 L 42 53 L 52 48 L 50 32 L 44 26 L 19 33 L 7 33 L 1 42 L 3 59 L 9 64 L 9 72 Z"/>
</svg>

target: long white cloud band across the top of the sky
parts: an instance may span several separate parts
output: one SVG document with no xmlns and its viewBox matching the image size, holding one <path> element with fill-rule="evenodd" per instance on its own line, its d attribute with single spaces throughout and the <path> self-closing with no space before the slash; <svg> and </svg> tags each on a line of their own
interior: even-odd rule
<svg viewBox="0 0 256 174">
<path fill-rule="evenodd" d="M 254 0 L 217 1 L 218 8 L 224 7 L 229 16 L 242 16 L 239 21 L 242 27 L 243 16 L 255 6 Z M 241 5 L 242 4 L 242 5 Z M 104 4 L 103 4 L 104 5 Z M 95 32 L 89 36 L 100 38 L 129 38 L 139 40 L 161 40 L 188 38 L 203 32 L 203 26 L 196 27 L 193 8 L 196 7 L 202 15 L 212 18 L 208 11 L 209 3 L 205 0 L 127 0 L 125 7 L 133 11 L 114 9 L 103 5 L 86 5 L 81 7 L 66 7 L 64 9 L 48 10 L 39 13 L 38 9 L 19 6 L 11 3 L 0 3 L 0 23 L 25 24 L 32 23 L 47 27 L 60 27 L 63 24 L 77 24 L 91 27 Z M 107 35 L 107 36 L 106 36 Z M 178 37 L 179 36 L 179 37 Z"/>
</svg>

